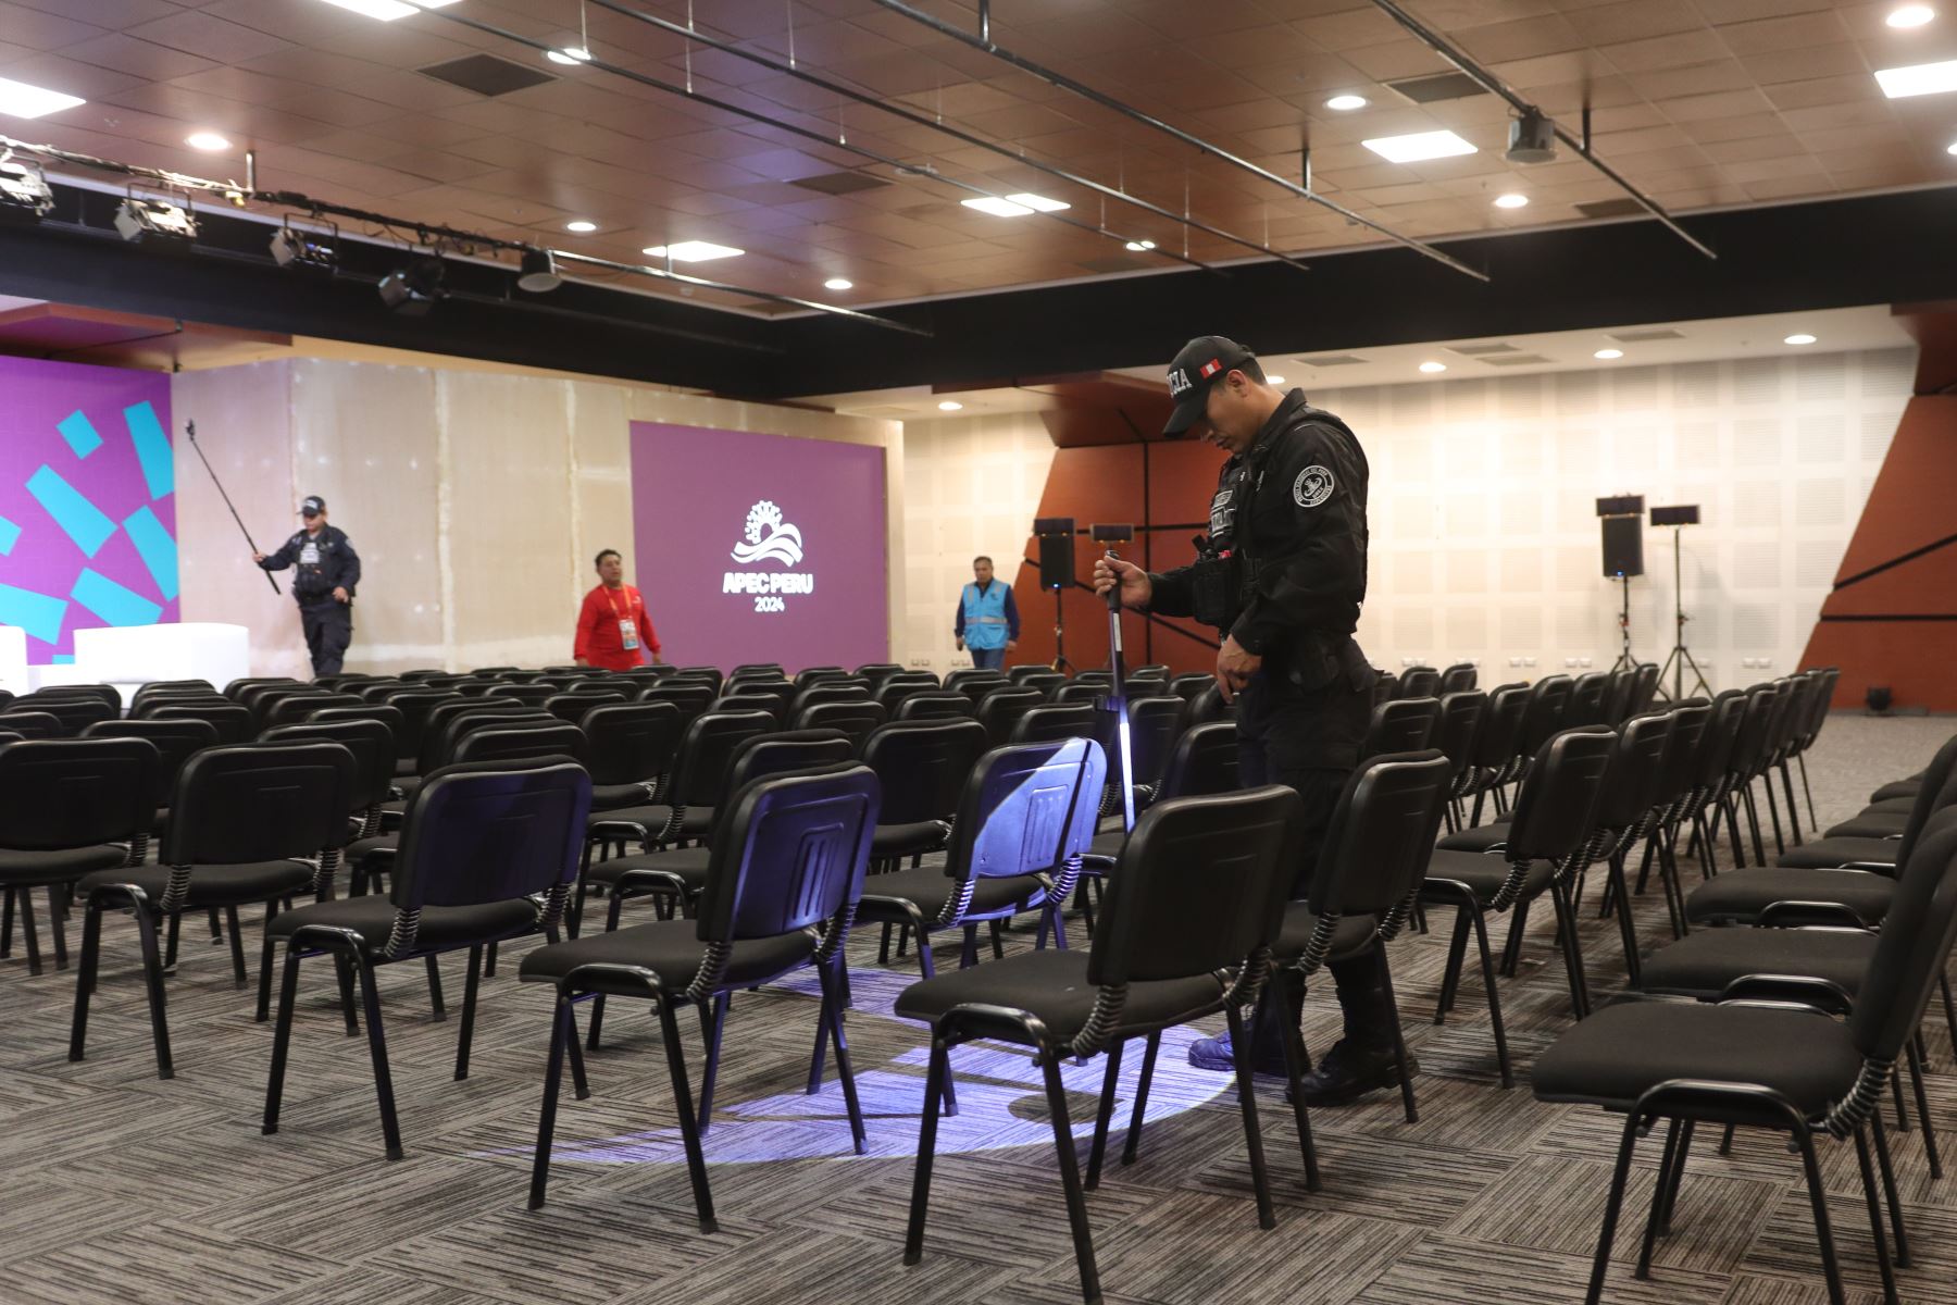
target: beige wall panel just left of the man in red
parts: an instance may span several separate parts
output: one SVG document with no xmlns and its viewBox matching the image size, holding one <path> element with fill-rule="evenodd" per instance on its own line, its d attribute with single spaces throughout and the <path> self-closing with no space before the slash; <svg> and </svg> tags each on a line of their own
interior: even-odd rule
<svg viewBox="0 0 1957 1305">
<path fill-rule="evenodd" d="M 571 565 L 569 383 L 440 372 L 450 661 L 564 665 Z"/>
</svg>

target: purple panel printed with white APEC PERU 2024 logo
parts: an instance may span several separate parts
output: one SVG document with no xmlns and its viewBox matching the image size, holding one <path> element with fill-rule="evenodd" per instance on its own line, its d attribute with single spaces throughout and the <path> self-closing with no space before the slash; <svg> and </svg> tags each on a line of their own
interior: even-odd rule
<svg viewBox="0 0 1957 1305">
<path fill-rule="evenodd" d="M 881 448 L 634 421 L 632 583 L 665 659 L 888 659 L 883 495 Z"/>
</svg>

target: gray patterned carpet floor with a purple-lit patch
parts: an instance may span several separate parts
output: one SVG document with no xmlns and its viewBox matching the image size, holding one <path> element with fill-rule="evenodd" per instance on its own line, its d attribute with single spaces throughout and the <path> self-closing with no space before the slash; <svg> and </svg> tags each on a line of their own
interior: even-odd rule
<svg viewBox="0 0 1957 1305">
<path fill-rule="evenodd" d="M 1951 728 L 1836 716 L 1810 767 L 1822 822 L 1853 814 L 1879 781 L 1920 769 Z M 1538 916 L 1523 972 L 1503 984 L 1515 1090 L 1497 1084 L 1478 982 L 1464 984 L 1446 1025 L 1429 1021 L 1446 943 L 1446 929 L 1436 929 L 1393 953 L 1425 1070 L 1417 1125 L 1401 1119 L 1397 1096 L 1315 1111 L 1325 1190 L 1313 1195 L 1282 1098 L 1262 1094 L 1276 1231 L 1256 1227 L 1233 1098 L 1221 1078 L 1180 1066 L 1186 1037 L 1172 1039 L 1141 1160 L 1114 1166 L 1090 1197 L 1108 1299 L 1581 1299 L 1618 1123 L 1528 1096 L 1528 1062 L 1568 1025 L 1550 912 Z M 1638 923 L 1640 937 L 1656 943 L 1663 931 L 1656 894 L 1638 904 Z M 133 927 L 115 920 L 106 937 L 84 1064 L 65 1058 L 72 976 L 49 968 L 29 978 L 18 949 L 0 961 L 0 1301 L 8 1305 L 1078 1301 L 1037 1076 L 1024 1057 L 984 1047 L 955 1058 L 963 1109 L 941 1135 L 926 1258 L 914 1268 L 900 1262 L 924 1047 L 914 1025 L 887 1015 L 914 959 L 879 972 L 867 931 L 851 947 L 849 1037 L 871 1154 L 847 1154 L 834 1078 L 814 1098 L 798 1088 L 814 1000 L 796 990 L 744 996 L 728 1025 L 706 1139 L 720 1213 L 710 1237 L 695 1225 L 656 1023 L 622 1004 L 609 1017 L 609 1047 L 591 1057 L 593 1100 L 566 1094 L 552 1199 L 532 1215 L 524 1195 L 548 1002 L 515 982 L 509 951 L 483 986 L 466 1082 L 452 1078 L 456 1021 L 429 1017 L 419 967 L 384 972 L 407 1141 L 407 1158 L 389 1164 L 366 1043 L 342 1033 L 329 965 L 309 963 L 284 1127 L 262 1137 L 270 1029 L 252 1023 L 250 996 L 231 986 L 227 951 L 186 929 L 170 980 L 178 1076 L 159 1082 Z M 1029 933 L 1012 935 L 1010 947 L 1025 945 Z M 1585 951 L 1603 1000 L 1622 963 L 1615 925 L 1595 910 L 1585 912 Z M 955 949 L 939 955 L 955 965 Z M 444 972 L 454 1008 L 460 957 Z M 1313 1051 L 1331 1045 L 1337 1021 L 1329 984 L 1313 990 L 1305 1021 Z M 697 1057 L 697 1025 L 685 1031 Z M 1928 1037 L 1932 1113 L 1949 1154 L 1957 1076 L 1941 1019 Z M 1090 1121 L 1098 1084 L 1100 1062 L 1070 1072 L 1076 1127 Z M 1845 1147 L 1822 1150 L 1843 1274 L 1861 1305 L 1877 1299 L 1877 1276 L 1855 1160 Z M 1626 1207 L 1640 1219 L 1656 1160 L 1652 1141 Z M 1898 1139 L 1898 1164 L 1916 1248 L 1914 1268 L 1900 1274 L 1902 1295 L 1957 1301 L 1957 1174 L 1930 1182 L 1916 1131 Z M 1609 1301 L 1826 1299 L 1798 1160 L 1771 1137 L 1742 1135 L 1730 1156 L 1710 1147 L 1693 1154 L 1675 1233 L 1660 1244 L 1648 1282 L 1630 1274 L 1638 1227 L 1618 1238 Z"/>
</svg>

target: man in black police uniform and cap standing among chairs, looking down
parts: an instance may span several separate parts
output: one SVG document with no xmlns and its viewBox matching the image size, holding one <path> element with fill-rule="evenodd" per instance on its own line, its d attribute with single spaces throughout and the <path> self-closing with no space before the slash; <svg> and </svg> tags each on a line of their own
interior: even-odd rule
<svg viewBox="0 0 1957 1305">
<path fill-rule="evenodd" d="M 1251 350 L 1219 335 L 1190 340 L 1168 368 L 1176 409 L 1164 436 L 1202 427 L 1231 452 L 1209 501 L 1198 562 L 1147 573 L 1104 558 L 1094 585 L 1121 585 L 1123 607 L 1194 616 L 1223 634 L 1217 687 L 1237 704 L 1243 785 L 1286 785 L 1303 798 L 1303 898 L 1372 716 L 1374 669 L 1352 630 L 1366 597 L 1366 452 L 1352 430 L 1264 380 Z M 1344 1039 L 1305 1076 L 1311 1105 L 1337 1105 L 1399 1082 L 1391 1006 L 1372 961 L 1333 963 Z M 1303 978 L 1284 996 L 1296 1006 Z M 1270 1004 L 1268 1012 L 1278 1012 Z M 1280 1025 L 1260 1019 L 1254 1062 L 1284 1072 Z M 1233 1070 L 1229 1035 L 1190 1047 L 1200 1068 Z M 1411 1066 L 1411 1060 L 1409 1060 Z"/>
</svg>

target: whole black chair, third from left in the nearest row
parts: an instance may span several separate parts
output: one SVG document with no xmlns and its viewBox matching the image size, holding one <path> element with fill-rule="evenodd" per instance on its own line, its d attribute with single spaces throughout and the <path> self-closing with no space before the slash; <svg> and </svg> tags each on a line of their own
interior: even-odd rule
<svg viewBox="0 0 1957 1305">
<path fill-rule="evenodd" d="M 360 976 L 360 1000 L 380 1098 L 387 1158 L 401 1158 L 401 1123 L 382 1029 L 380 965 L 468 949 L 470 968 L 456 1045 L 456 1078 L 468 1078 L 476 1031 L 476 990 L 483 949 L 542 929 L 556 941 L 564 900 L 577 875 L 591 777 L 579 765 L 503 769 L 505 763 L 448 767 L 415 790 L 401 826 L 387 898 L 364 896 L 301 906 L 268 922 L 286 943 L 272 1031 L 272 1070 L 264 1090 L 264 1133 L 278 1133 L 286 1053 L 299 990 L 299 961 L 333 955 Z M 342 970 L 344 972 L 344 970 Z"/>
</svg>

